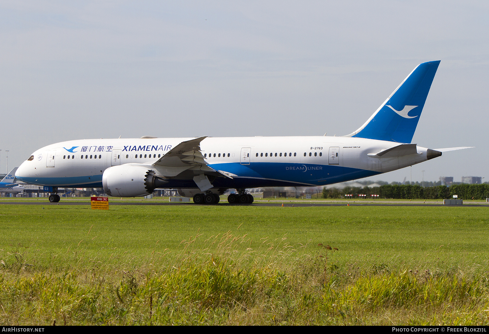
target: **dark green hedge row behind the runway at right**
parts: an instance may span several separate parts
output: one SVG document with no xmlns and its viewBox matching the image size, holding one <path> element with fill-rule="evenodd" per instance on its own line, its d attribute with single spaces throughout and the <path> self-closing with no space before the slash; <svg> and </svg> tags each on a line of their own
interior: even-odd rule
<svg viewBox="0 0 489 334">
<path fill-rule="evenodd" d="M 383 185 L 380 187 L 345 187 L 338 188 L 323 188 L 323 198 L 345 198 L 345 195 L 351 194 L 353 198 L 358 198 L 358 195 L 379 195 L 379 198 L 393 199 L 448 199 L 453 198 L 453 195 L 458 195 L 458 198 L 469 200 L 478 199 L 484 200 L 489 198 L 489 184 L 482 185 L 451 185 L 421 187 L 419 185 Z"/>
</svg>

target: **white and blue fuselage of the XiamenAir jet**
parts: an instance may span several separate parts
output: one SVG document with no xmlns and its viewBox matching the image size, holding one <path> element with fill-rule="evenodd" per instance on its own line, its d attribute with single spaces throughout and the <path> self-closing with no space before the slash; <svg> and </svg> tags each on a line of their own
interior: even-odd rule
<svg viewBox="0 0 489 334">
<path fill-rule="evenodd" d="M 179 143 L 194 138 L 84 139 L 44 146 L 24 161 L 16 177 L 54 187 L 102 187 L 111 166 L 151 167 Z M 411 166 L 427 160 L 415 154 L 378 158 L 367 154 L 400 143 L 352 137 L 207 137 L 200 151 L 209 167 L 232 175 L 216 179 L 216 188 L 322 186 Z M 69 158 L 68 158 L 69 157 Z M 175 177 L 165 188 L 196 188 L 192 178 Z"/>
</svg>

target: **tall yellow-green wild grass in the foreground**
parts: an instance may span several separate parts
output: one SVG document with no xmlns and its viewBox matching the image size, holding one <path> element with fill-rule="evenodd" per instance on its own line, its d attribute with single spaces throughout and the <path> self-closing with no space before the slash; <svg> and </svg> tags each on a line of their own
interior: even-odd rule
<svg viewBox="0 0 489 334">
<path fill-rule="evenodd" d="M 0 323 L 488 323 L 487 272 L 358 266 L 338 261 L 341 250 L 290 245 L 287 236 L 252 243 L 239 230 L 197 234 L 130 268 L 36 264 L 17 245 L 0 264 Z"/>
</svg>

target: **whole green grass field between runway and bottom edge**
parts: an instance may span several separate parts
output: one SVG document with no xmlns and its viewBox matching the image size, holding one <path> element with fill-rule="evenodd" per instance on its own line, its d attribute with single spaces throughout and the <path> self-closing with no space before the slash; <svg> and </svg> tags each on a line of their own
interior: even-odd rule
<svg viewBox="0 0 489 334">
<path fill-rule="evenodd" d="M 487 210 L 3 205 L 0 323 L 488 324 Z"/>
</svg>

